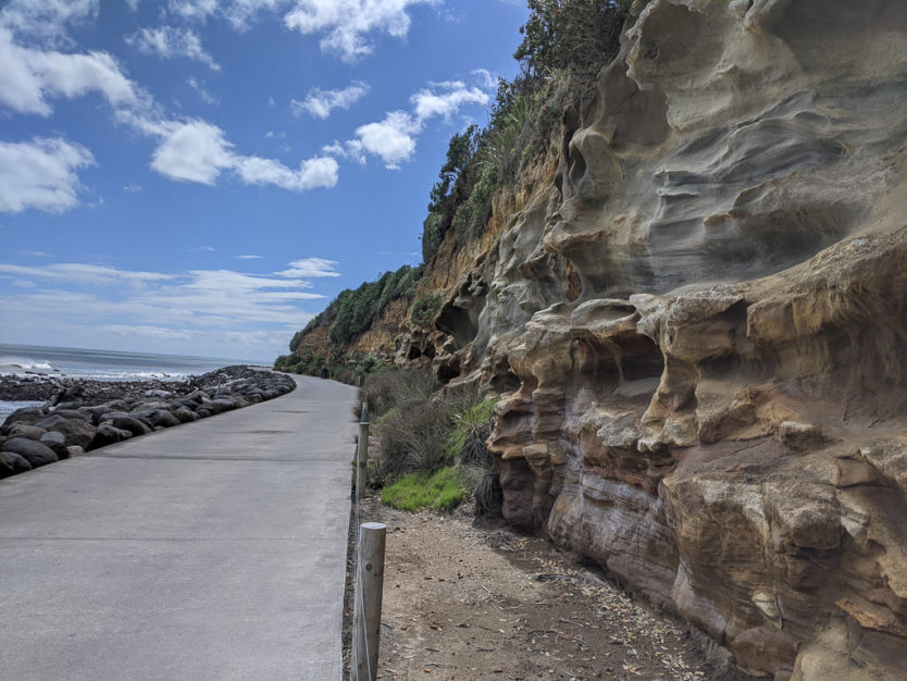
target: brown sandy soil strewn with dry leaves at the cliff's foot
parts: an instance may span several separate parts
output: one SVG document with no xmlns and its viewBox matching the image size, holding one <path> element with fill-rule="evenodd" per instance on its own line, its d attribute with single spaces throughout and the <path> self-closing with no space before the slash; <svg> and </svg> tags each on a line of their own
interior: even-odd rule
<svg viewBox="0 0 907 681">
<path fill-rule="evenodd" d="M 546 540 L 371 497 L 360 521 L 387 524 L 381 679 L 735 677 L 704 636 Z"/>
</svg>

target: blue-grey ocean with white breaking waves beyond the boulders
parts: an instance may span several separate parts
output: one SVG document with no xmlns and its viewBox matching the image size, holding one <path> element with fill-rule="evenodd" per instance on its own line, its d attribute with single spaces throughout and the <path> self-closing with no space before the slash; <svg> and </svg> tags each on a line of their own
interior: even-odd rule
<svg viewBox="0 0 907 681">
<path fill-rule="evenodd" d="M 37 373 L 96 381 L 179 381 L 231 364 L 261 363 L 243 359 L 0 343 L 0 375 Z M 0 423 L 20 407 L 39 404 L 0 400 Z"/>
</svg>

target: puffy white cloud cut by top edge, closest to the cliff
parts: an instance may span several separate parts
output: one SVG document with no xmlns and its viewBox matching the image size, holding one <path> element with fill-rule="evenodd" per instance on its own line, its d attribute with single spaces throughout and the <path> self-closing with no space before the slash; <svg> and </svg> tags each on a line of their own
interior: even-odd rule
<svg viewBox="0 0 907 681">
<path fill-rule="evenodd" d="M 417 4 L 436 4 L 439 0 L 296 0 L 284 16 L 288 28 L 302 35 L 322 34 L 324 52 L 336 52 L 353 62 L 374 49 L 368 36 L 385 33 L 405 38 L 411 20 L 407 9 Z"/>
</svg>

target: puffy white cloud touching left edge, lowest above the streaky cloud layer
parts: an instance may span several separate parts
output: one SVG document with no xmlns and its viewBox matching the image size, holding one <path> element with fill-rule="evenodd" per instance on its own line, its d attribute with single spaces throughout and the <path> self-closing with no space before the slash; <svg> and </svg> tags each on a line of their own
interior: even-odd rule
<svg viewBox="0 0 907 681">
<path fill-rule="evenodd" d="M 91 152 L 59 137 L 0 141 L 0 212 L 27 208 L 63 212 L 78 202 L 75 171 L 94 165 Z"/>
</svg>

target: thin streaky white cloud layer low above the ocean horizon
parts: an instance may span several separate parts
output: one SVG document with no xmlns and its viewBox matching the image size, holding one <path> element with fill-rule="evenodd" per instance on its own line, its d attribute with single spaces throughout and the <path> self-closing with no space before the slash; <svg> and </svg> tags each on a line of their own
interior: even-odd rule
<svg viewBox="0 0 907 681">
<path fill-rule="evenodd" d="M 310 285 L 302 280 L 229 271 L 166 276 L 138 285 L 53 281 L 47 288 L 10 290 L 0 295 L 8 339 L 34 343 L 50 334 L 109 347 L 117 335 L 120 349 L 190 355 L 203 344 L 215 357 L 268 360 L 286 352 L 290 334 L 312 319 L 301 306 L 322 298 L 301 290 Z"/>
</svg>

